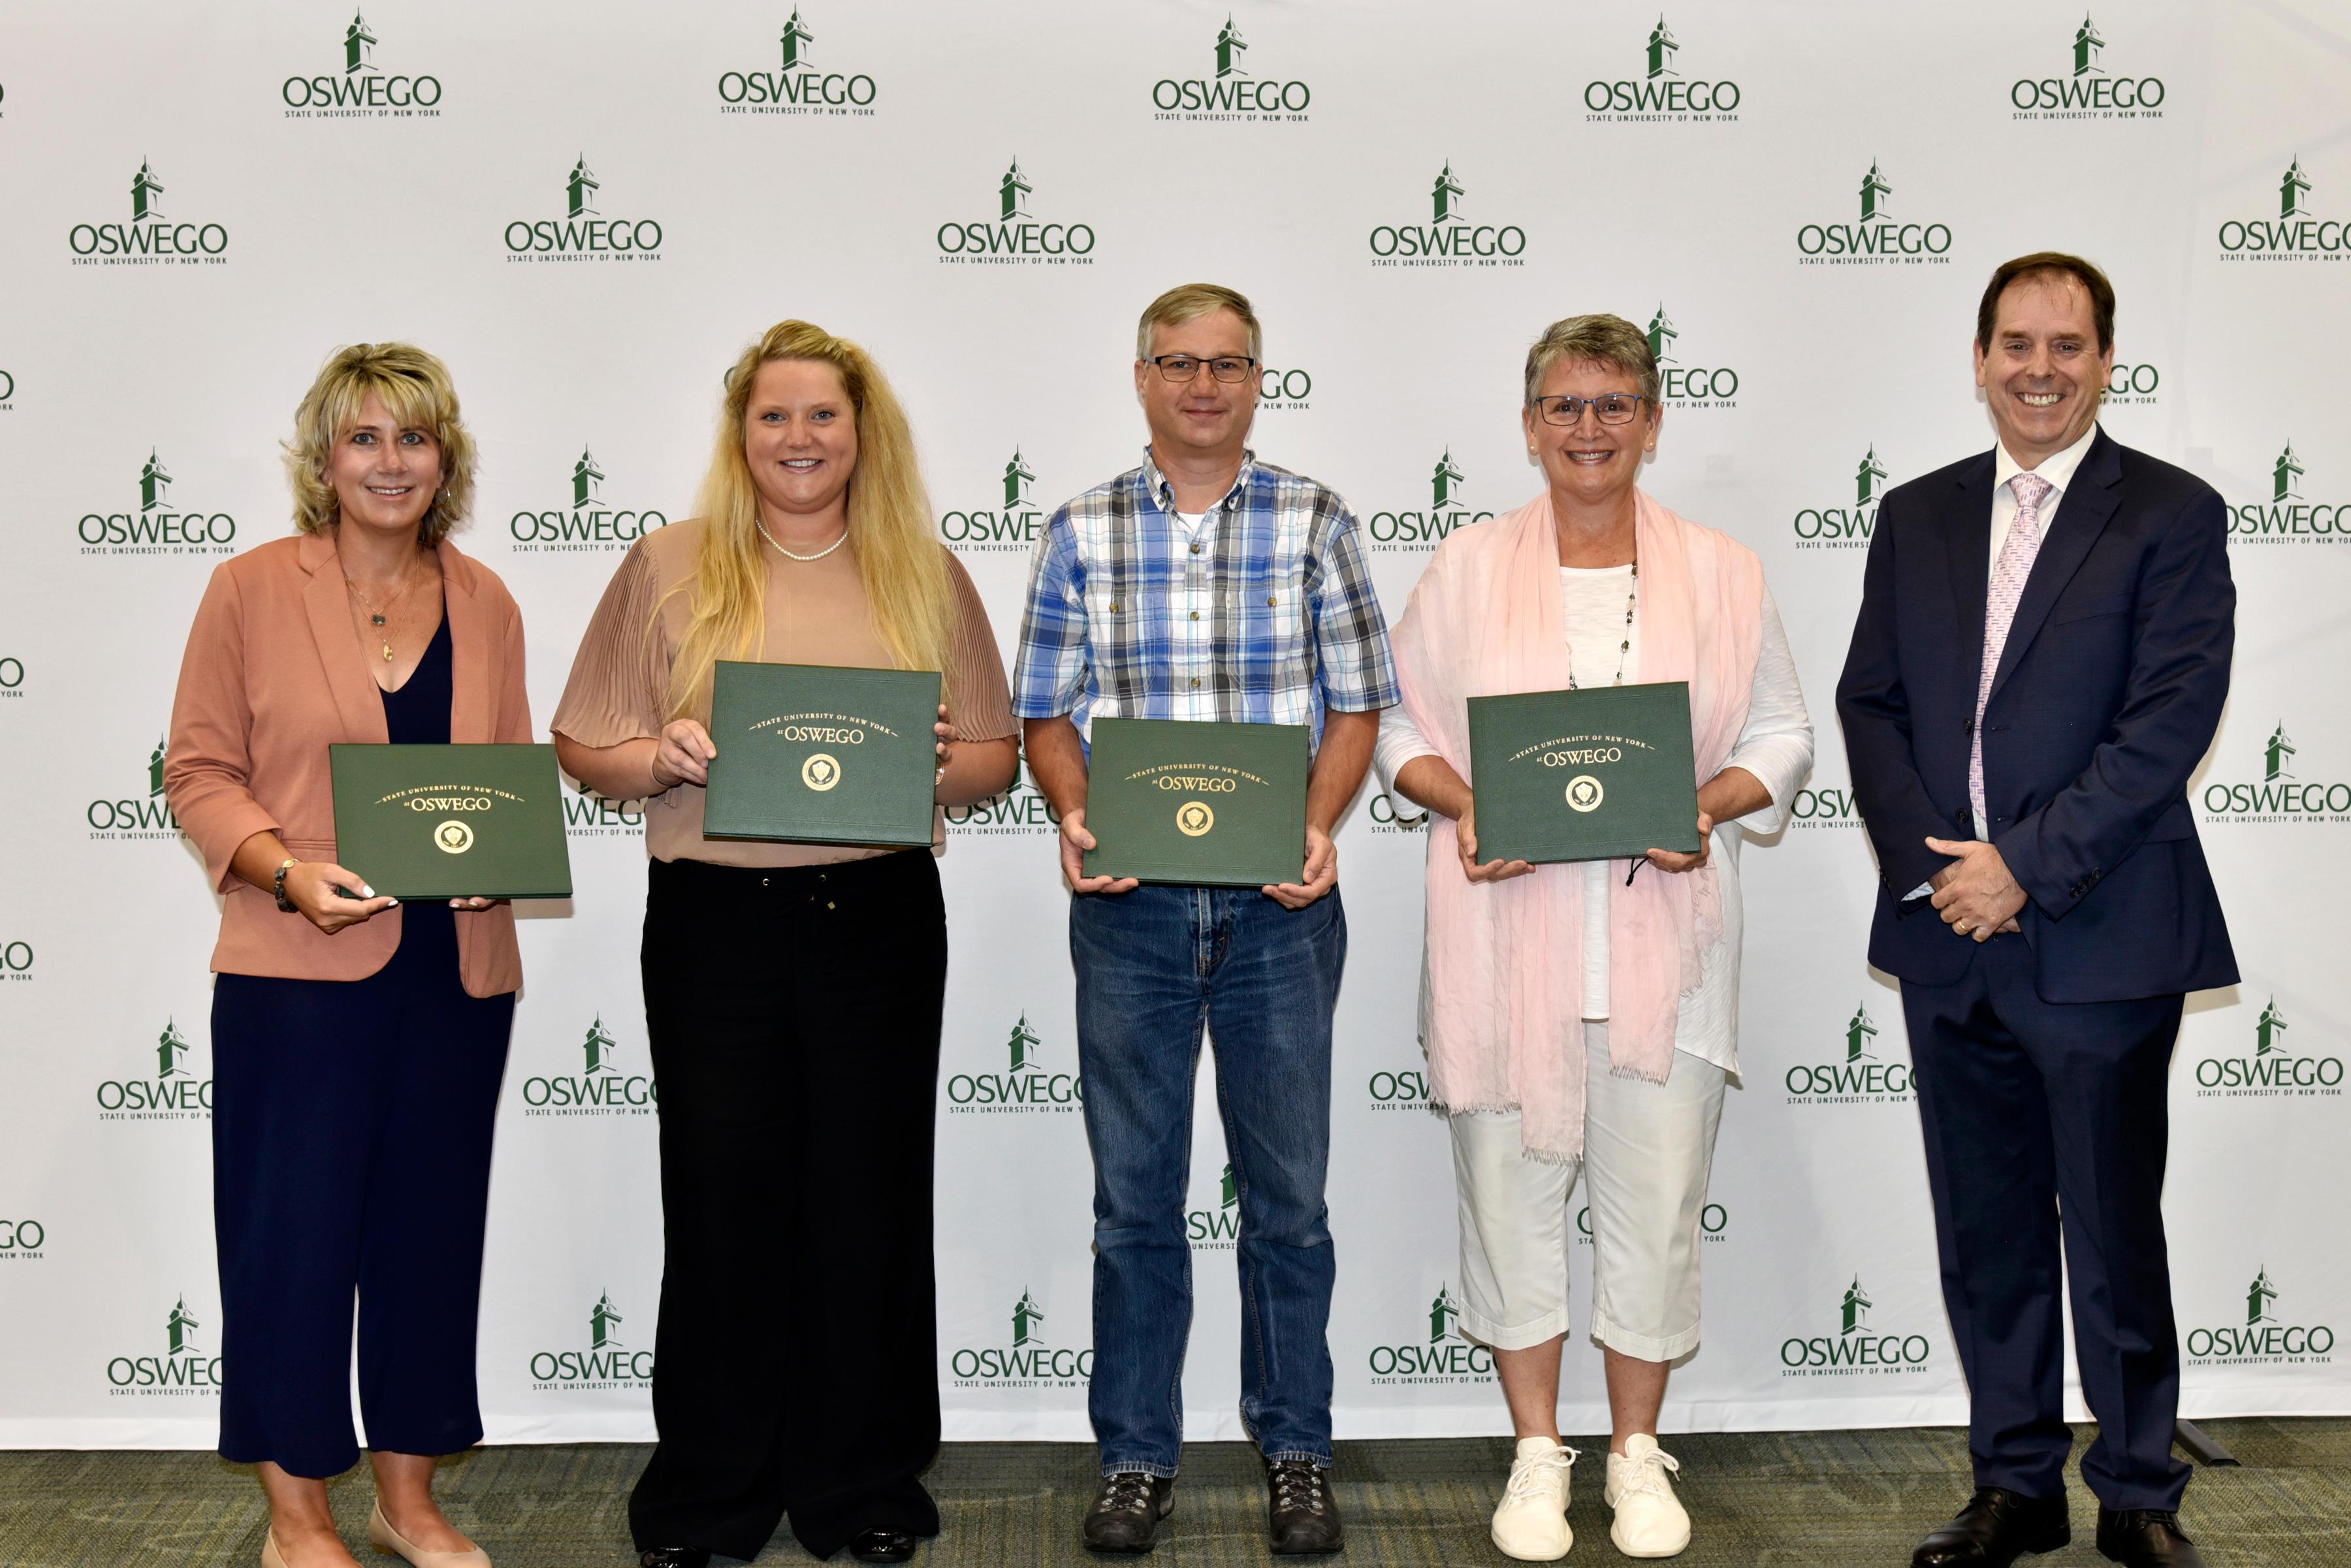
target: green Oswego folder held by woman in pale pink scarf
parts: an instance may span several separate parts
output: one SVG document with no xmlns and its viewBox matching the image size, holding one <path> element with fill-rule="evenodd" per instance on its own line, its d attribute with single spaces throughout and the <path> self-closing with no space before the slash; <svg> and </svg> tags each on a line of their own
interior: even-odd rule
<svg viewBox="0 0 2351 1568">
<path fill-rule="evenodd" d="M 1690 686 L 1469 698 L 1479 860 L 1697 853 Z"/>
</svg>

